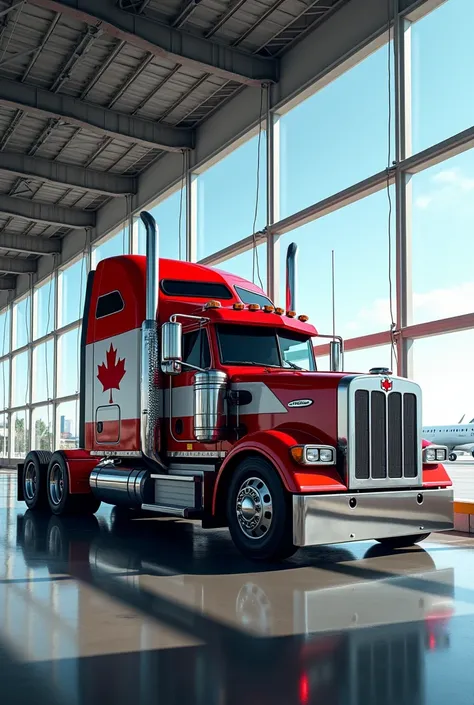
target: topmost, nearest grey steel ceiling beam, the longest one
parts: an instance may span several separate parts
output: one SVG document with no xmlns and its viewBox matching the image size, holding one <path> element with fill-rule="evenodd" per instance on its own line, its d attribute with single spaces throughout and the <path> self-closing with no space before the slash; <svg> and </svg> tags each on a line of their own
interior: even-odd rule
<svg viewBox="0 0 474 705">
<path fill-rule="evenodd" d="M 31 2 L 89 25 L 96 26 L 97 22 L 101 22 L 100 29 L 107 34 L 149 51 L 159 59 L 175 61 L 227 81 L 255 86 L 278 80 L 276 59 L 246 54 L 239 49 L 151 21 L 148 17 L 125 12 L 116 5 L 116 0 Z"/>
</svg>

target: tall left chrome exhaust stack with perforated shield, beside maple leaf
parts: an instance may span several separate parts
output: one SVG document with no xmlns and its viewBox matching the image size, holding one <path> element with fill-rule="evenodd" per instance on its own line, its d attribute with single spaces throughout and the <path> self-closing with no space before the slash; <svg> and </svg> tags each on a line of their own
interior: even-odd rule
<svg viewBox="0 0 474 705">
<path fill-rule="evenodd" d="M 159 455 L 161 447 L 161 409 L 159 387 L 159 344 L 157 328 L 159 286 L 159 244 L 155 219 L 147 211 L 140 213 L 146 230 L 146 318 L 142 324 L 141 359 L 141 447 L 144 456 L 165 467 Z"/>
</svg>

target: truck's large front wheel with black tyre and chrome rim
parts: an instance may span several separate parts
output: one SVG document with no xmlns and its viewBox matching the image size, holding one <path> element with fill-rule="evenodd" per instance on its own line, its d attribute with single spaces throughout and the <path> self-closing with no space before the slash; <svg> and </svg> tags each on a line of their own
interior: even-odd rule
<svg viewBox="0 0 474 705">
<path fill-rule="evenodd" d="M 290 495 L 275 468 L 263 458 L 246 458 L 237 466 L 227 497 L 227 521 L 237 548 L 255 560 L 293 555 Z"/>
</svg>

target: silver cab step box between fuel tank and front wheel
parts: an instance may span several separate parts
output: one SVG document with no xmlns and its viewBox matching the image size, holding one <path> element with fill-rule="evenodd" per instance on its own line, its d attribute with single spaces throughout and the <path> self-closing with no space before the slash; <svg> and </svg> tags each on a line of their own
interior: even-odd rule
<svg viewBox="0 0 474 705">
<path fill-rule="evenodd" d="M 202 514 L 202 476 L 151 475 L 154 481 L 153 504 L 142 504 L 142 509 L 159 514 L 171 514 L 185 519 Z"/>
</svg>

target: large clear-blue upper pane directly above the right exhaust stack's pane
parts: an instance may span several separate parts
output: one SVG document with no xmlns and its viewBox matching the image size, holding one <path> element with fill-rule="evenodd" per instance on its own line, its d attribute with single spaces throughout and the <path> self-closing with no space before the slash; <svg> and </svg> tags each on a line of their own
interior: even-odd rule
<svg viewBox="0 0 474 705">
<path fill-rule="evenodd" d="M 281 218 L 386 168 L 388 58 L 385 45 L 281 118 Z"/>
</svg>

